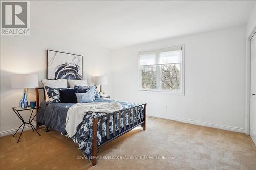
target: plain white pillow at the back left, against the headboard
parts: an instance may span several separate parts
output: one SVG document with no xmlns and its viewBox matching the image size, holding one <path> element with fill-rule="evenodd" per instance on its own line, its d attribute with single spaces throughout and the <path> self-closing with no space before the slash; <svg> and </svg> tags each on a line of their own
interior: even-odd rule
<svg viewBox="0 0 256 170">
<path fill-rule="evenodd" d="M 42 84 L 44 85 L 46 102 L 49 101 L 50 98 L 47 95 L 45 86 L 53 87 L 53 88 L 68 88 L 67 79 L 57 79 L 57 80 L 42 79 Z"/>
</svg>

